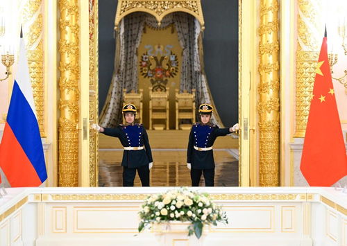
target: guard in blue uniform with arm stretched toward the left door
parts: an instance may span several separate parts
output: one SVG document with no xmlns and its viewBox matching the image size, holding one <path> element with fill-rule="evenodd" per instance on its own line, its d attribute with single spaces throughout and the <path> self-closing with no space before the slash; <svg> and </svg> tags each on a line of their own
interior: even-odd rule
<svg viewBox="0 0 347 246">
<path fill-rule="evenodd" d="M 151 146 L 149 137 L 142 124 L 134 123 L 136 116 L 135 105 L 129 103 L 123 107 L 123 115 L 126 124 L 120 124 L 117 128 L 101 128 L 99 125 L 92 125 L 92 128 L 105 135 L 119 138 L 124 146 L 123 159 L 123 186 L 134 186 L 134 179 L 137 173 L 141 179 L 142 186 L 149 186 L 149 170 L 153 166 Z"/>
</svg>

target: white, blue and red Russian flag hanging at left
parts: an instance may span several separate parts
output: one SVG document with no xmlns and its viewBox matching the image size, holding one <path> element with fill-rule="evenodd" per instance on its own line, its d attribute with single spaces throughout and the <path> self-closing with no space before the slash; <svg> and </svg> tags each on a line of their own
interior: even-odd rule
<svg viewBox="0 0 347 246">
<path fill-rule="evenodd" d="M 39 186 L 47 178 L 22 38 L 17 76 L 0 145 L 0 167 L 12 187 Z"/>
</svg>

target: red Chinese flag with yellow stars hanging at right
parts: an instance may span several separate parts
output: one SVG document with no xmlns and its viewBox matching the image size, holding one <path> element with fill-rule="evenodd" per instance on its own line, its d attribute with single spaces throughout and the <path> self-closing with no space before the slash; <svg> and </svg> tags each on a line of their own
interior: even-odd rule
<svg viewBox="0 0 347 246">
<path fill-rule="evenodd" d="M 347 157 L 332 87 L 326 30 L 311 98 L 300 169 L 310 186 L 332 186 L 347 175 Z"/>
</svg>

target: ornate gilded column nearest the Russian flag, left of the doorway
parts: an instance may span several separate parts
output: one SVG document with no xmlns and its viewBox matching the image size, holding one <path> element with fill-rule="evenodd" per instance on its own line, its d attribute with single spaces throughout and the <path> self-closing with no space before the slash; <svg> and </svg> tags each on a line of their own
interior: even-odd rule
<svg viewBox="0 0 347 246">
<path fill-rule="evenodd" d="M 58 185 L 78 186 L 79 8 L 78 0 L 59 0 Z"/>
</svg>

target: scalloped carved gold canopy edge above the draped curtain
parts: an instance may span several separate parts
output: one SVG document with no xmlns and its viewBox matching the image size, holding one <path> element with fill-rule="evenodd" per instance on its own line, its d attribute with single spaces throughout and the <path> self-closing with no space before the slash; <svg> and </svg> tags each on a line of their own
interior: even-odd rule
<svg viewBox="0 0 347 246">
<path fill-rule="evenodd" d="M 133 12 L 147 12 L 157 19 L 158 24 L 171 12 L 187 12 L 200 22 L 202 30 L 205 28 L 201 0 L 119 0 L 115 17 L 115 30 L 121 19 Z"/>
</svg>

